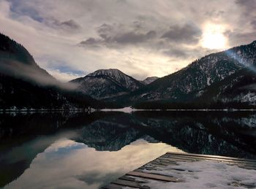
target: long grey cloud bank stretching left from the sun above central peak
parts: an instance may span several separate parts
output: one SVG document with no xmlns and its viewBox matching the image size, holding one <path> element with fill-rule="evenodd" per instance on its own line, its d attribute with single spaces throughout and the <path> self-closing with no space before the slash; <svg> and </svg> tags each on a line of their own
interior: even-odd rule
<svg viewBox="0 0 256 189">
<path fill-rule="evenodd" d="M 157 50 L 163 55 L 175 58 L 192 57 L 191 50 L 183 47 L 184 44 L 195 44 L 198 42 L 201 31 L 196 26 L 185 24 L 183 26 L 171 26 L 169 30 L 158 31 L 143 28 L 143 23 L 134 21 L 130 27 L 122 24 L 104 23 L 96 28 L 97 36 L 89 37 L 80 42 L 80 46 L 88 48 L 109 47 L 122 48 L 129 46 L 140 46 L 146 49 Z M 158 36 L 157 34 L 162 34 Z M 175 47 L 173 47 L 175 45 Z"/>
</svg>

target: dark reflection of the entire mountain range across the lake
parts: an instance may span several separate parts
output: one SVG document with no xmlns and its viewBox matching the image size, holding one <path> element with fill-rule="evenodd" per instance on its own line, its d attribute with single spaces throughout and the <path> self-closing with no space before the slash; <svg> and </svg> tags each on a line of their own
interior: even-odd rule
<svg viewBox="0 0 256 189">
<path fill-rule="evenodd" d="M 121 112 L 0 114 L 0 187 L 65 136 L 96 150 L 116 151 L 137 139 L 188 153 L 256 158 L 256 117 L 250 112 Z"/>
</svg>

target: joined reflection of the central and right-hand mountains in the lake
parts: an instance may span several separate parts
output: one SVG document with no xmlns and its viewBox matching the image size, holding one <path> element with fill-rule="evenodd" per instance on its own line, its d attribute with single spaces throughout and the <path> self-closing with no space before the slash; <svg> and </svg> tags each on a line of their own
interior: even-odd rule
<svg viewBox="0 0 256 189">
<path fill-rule="evenodd" d="M 121 147 L 146 136 L 171 144 L 189 153 L 255 157 L 256 127 L 252 115 L 190 112 L 118 113 L 83 127 L 77 142 L 96 150 L 120 150 Z M 247 116 L 247 117 L 246 117 Z M 227 121 L 228 120 L 228 121 Z M 151 142 L 149 141 L 149 142 Z"/>
</svg>

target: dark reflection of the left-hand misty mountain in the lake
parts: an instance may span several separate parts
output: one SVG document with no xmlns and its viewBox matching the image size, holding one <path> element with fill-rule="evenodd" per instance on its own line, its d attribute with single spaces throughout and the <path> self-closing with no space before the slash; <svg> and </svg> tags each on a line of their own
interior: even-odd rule
<svg viewBox="0 0 256 189">
<path fill-rule="evenodd" d="M 60 128 L 84 126 L 93 119 L 72 112 L 0 114 L 0 188 L 23 174 L 58 139 L 53 134 Z"/>
</svg>

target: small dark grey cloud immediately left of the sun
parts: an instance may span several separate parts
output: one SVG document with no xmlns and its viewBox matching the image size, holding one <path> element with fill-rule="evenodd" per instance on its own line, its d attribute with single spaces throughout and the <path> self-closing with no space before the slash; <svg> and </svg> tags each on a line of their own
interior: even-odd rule
<svg viewBox="0 0 256 189">
<path fill-rule="evenodd" d="M 162 35 L 162 38 L 170 39 L 172 42 L 197 43 L 202 32 L 200 28 L 186 24 L 184 26 L 170 26 L 170 30 Z"/>
</svg>

